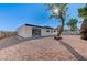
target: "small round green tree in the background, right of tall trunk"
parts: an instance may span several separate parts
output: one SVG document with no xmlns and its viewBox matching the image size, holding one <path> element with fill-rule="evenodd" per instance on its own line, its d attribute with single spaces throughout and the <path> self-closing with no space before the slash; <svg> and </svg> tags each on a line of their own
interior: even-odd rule
<svg viewBox="0 0 87 65">
<path fill-rule="evenodd" d="M 77 30 L 77 19 L 69 19 L 69 21 L 66 23 L 66 25 L 69 28 L 70 31 L 76 31 Z"/>
</svg>

